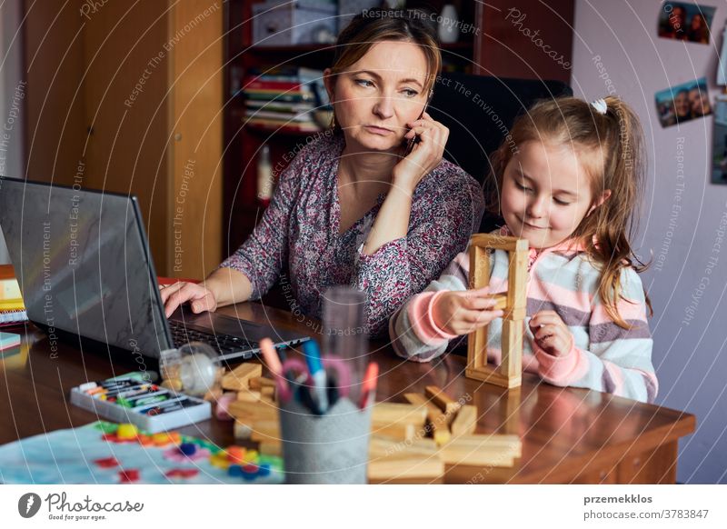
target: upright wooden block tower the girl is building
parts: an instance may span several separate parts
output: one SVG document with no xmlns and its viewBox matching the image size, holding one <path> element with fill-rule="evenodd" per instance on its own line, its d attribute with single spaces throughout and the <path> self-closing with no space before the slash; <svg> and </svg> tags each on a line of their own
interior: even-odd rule
<svg viewBox="0 0 727 529">
<path fill-rule="evenodd" d="M 507 294 L 497 294 L 496 308 L 503 315 L 503 361 L 497 366 L 487 364 L 487 325 L 469 335 L 467 369 L 469 378 L 503 387 L 518 387 L 523 372 L 523 323 L 525 319 L 528 264 L 528 242 L 517 237 L 475 234 L 470 241 L 470 288 L 490 284 L 490 261 L 487 250 L 504 250 L 510 265 Z"/>
</svg>

